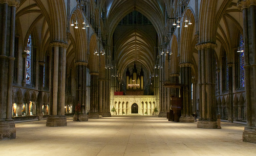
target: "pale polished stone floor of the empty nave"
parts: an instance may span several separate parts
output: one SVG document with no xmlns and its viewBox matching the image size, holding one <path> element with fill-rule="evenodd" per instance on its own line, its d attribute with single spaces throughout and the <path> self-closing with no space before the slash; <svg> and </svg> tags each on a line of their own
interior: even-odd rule
<svg viewBox="0 0 256 156">
<path fill-rule="evenodd" d="M 0 155 L 256 155 L 242 142 L 243 124 L 222 129 L 165 118 L 109 117 L 46 127 L 46 121 L 16 123 L 16 139 L 0 141 Z"/>
</svg>

